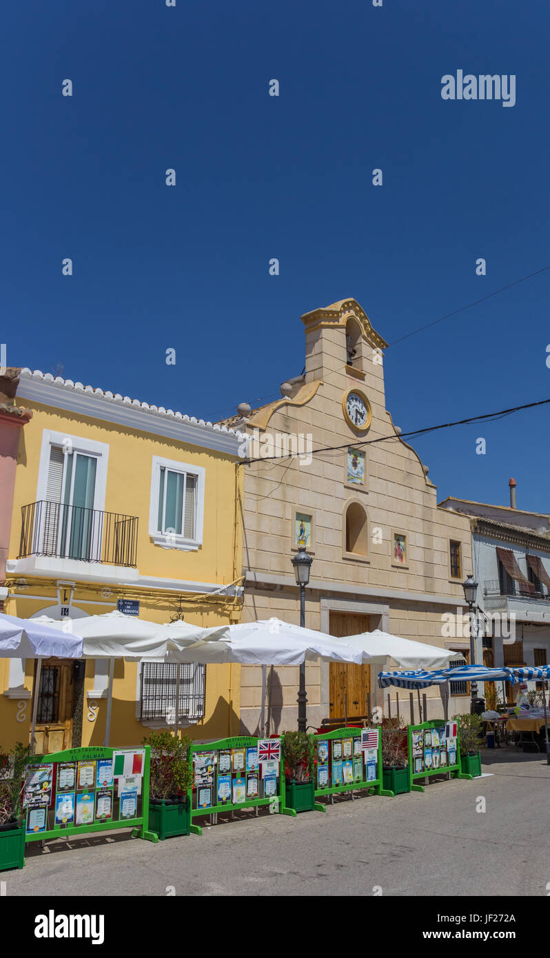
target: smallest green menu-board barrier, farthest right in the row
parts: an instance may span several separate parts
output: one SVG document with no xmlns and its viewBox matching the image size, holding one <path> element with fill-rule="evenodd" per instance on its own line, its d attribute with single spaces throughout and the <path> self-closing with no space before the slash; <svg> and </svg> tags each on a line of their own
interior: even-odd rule
<svg viewBox="0 0 550 958">
<path fill-rule="evenodd" d="M 456 719 L 453 719 L 456 721 Z M 456 739 L 446 739 L 444 744 L 440 742 L 441 732 L 445 732 L 445 719 L 431 719 L 424 721 L 419 725 L 407 725 L 407 749 L 408 749 L 408 767 L 411 791 L 424 791 L 424 786 L 419 785 L 419 779 L 425 779 L 433 775 L 445 775 L 449 778 L 471 779 L 473 776 L 467 775 L 461 770 L 460 766 L 460 725 L 456 721 L 457 732 Z M 437 736 L 433 735 L 436 730 Z M 426 735 L 426 732 L 429 734 Z M 437 744 L 435 744 L 437 741 Z M 452 742 L 454 741 L 454 744 Z M 441 764 L 442 758 L 444 764 Z M 434 762 L 436 763 L 434 765 Z"/>
</svg>

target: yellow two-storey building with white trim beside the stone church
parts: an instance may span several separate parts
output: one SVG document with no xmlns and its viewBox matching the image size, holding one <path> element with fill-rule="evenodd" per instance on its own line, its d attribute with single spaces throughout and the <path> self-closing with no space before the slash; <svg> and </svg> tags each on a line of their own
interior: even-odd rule
<svg viewBox="0 0 550 958">
<path fill-rule="evenodd" d="M 0 377 L 0 608 L 64 622 L 117 607 L 158 623 L 237 622 L 240 434 L 225 426 L 9 369 Z M 11 505 L 12 504 L 12 505 Z M 78 629 L 74 628 L 78 634 Z M 26 740 L 35 663 L 0 659 L 0 744 Z M 102 744 L 105 660 L 44 660 L 37 747 Z M 240 728 L 240 667 L 183 666 L 180 725 Z M 167 728 L 175 666 L 118 660 L 110 743 Z"/>
</svg>

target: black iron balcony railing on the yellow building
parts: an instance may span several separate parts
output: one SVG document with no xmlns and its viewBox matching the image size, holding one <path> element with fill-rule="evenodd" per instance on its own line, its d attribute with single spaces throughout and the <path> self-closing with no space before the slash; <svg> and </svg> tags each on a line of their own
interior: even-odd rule
<svg viewBox="0 0 550 958">
<path fill-rule="evenodd" d="M 44 500 L 23 506 L 21 513 L 18 560 L 39 556 L 122 568 L 137 566 L 135 515 Z"/>
</svg>

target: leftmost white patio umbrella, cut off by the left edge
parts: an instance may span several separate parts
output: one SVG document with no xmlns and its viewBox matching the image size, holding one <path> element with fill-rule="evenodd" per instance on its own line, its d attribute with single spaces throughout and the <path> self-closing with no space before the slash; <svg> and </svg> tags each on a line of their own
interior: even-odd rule
<svg viewBox="0 0 550 958">
<path fill-rule="evenodd" d="M 46 619 L 46 621 L 42 621 Z M 77 635 L 61 631 L 53 619 L 19 619 L 0 613 L 0 658 L 35 658 L 36 676 L 33 685 L 33 718 L 31 749 L 34 752 L 34 729 L 38 708 L 38 689 L 43 658 L 80 658 L 82 640 Z"/>
</svg>

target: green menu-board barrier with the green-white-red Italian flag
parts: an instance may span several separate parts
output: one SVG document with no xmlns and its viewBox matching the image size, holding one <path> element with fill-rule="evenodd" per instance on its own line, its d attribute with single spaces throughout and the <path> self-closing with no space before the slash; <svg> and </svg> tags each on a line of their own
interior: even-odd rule
<svg viewBox="0 0 550 958">
<path fill-rule="evenodd" d="M 23 793 L 25 841 L 131 828 L 132 835 L 157 842 L 149 832 L 149 763 L 149 746 L 34 756 Z"/>
</svg>

